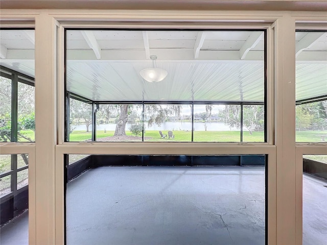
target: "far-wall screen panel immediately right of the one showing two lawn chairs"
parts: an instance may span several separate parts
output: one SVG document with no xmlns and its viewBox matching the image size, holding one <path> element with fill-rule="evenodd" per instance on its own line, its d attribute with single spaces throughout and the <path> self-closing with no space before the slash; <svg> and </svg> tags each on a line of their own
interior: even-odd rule
<svg viewBox="0 0 327 245">
<path fill-rule="evenodd" d="M 194 105 L 194 141 L 239 142 L 240 105 Z"/>
</svg>

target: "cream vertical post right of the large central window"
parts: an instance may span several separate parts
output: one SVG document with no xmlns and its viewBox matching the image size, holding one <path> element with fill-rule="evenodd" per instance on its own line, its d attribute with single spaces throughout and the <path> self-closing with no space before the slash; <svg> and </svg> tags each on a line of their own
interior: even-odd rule
<svg viewBox="0 0 327 245">
<path fill-rule="evenodd" d="M 295 244 L 295 20 L 276 21 L 276 243 Z"/>
</svg>

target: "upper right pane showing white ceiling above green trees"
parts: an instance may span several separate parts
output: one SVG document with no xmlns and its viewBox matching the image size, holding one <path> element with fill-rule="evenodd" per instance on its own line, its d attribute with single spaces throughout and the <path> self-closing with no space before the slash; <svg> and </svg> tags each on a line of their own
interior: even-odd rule
<svg viewBox="0 0 327 245">
<path fill-rule="evenodd" d="M 296 32 L 296 141 L 327 141 L 327 32 Z"/>
</svg>

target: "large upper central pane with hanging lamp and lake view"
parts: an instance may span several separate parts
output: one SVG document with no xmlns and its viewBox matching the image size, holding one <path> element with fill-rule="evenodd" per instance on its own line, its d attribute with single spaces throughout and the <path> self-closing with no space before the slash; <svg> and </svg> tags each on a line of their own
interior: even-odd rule
<svg viewBox="0 0 327 245">
<path fill-rule="evenodd" d="M 67 141 L 266 142 L 264 31 L 65 33 Z"/>
</svg>

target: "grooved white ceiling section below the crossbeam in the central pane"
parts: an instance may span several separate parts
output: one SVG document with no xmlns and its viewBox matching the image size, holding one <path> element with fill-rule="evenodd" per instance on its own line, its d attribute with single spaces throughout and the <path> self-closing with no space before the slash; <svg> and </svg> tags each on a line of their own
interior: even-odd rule
<svg viewBox="0 0 327 245">
<path fill-rule="evenodd" d="M 150 64 L 68 61 L 67 90 L 94 101 L 263 102 L 262 62 L 162 62 L 168 76 L 158 83 L 139 75 Z"/>
</svg>

